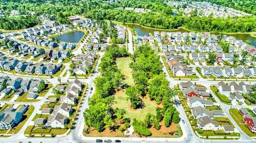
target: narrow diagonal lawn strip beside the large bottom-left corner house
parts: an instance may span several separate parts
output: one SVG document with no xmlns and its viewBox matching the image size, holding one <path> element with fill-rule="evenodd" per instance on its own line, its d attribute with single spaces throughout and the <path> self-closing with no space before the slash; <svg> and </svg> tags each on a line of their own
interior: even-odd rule
<svg viewBox="0 0 256 143">
<path fill-rule="evenodd" d="M 11 129 L 9 131 L 9 133 L 18 133 L 20 131 L 20 129 L 23 127 L 23 125 L 27 122 L 29 116 L 33 113 L 35 107 L 30 105 L 28 107 L 28 111 L 23 114 L 23 118 L 21 119 L 21 122 L 17 125 L 17 127 L 14 127 L 13 129 Z"/>
</svg>

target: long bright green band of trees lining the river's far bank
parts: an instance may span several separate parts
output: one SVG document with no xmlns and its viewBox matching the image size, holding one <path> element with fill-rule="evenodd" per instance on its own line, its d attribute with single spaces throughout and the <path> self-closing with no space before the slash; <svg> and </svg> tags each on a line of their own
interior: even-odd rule
<svg viewBox="0 0 256 143">
<path fill-rule="evenodd" d="M 116 9 L 92 10 L 87 12 L 85 16 L 97 20 L 107 19 L 119 22 L 139 23 L 142 26 L 160 29 L 185 27 L 196 31 L 256 31 L 256 16 L 242 16 L 239 18 L 213 18 L 212 16 L 182 17 L 159 12 L 135 13 L 133 11 L 121 11 Z"/>
</svg>

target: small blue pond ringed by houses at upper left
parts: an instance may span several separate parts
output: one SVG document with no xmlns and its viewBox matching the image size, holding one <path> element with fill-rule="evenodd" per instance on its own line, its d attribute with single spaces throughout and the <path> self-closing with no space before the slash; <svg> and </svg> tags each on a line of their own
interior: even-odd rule
<svg viewBox="0 0 256 143">
<path fill-rule="evenodd" d="M 69 33 L 65 33 L 63 35 L 57 36 L 60 38 L 60 41 L 67 43 L 78 43 L 82 37 L 84 36 L 84 32 L 81 31 L 73 31 Z"/>
</svg>

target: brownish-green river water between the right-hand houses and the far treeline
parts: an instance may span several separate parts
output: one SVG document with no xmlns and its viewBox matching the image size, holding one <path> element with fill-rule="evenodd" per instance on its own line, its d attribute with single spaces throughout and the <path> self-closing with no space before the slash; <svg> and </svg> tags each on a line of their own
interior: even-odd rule
<svg viewBox="0 0 256 143">
<path fill-rule="evenodd" d="M 145 27 L 141 27 L 137 24 L 126 24 L 127 27 L 130 27 L 132 29 L 135 30 L 135 32 L 138 33 L 139 36 L 150 36 L 150 33 L 151 35 L 153 35 L 154 31 L 168 31 L 168 30 L 161 30 L 161 29 L 150 29 L 150 28 L 145 28 Z M 169 30 L 170 31 L 170 30 Z M 177 30 L 171 30 L 173 32 L 190 32 L 186 29 L 177 29 Z M 237 40 L 249 40 L 251 45 L 256 47 L 256 38 L 255 37 L 252 37 L 250 34 L 228 34 L 228 36 L 234 36 Z"/>
</svg>

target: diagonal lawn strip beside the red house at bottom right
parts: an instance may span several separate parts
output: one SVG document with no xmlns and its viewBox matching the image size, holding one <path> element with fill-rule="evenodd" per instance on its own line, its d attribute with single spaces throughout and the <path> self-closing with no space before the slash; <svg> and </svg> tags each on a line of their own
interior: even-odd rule
<svg viewBox="0 0 256 143">
<path fill-rule="evenodd" d="M 246 124 L 243 122 L 243 116 L 238 112 L 237 108 L 230 108 L 229 114 L 233 117 L 239 127 L 243 130 L 250 137 L 256 137 L 256 133 L 252 133 L 247 127 Z"/>
</svg>

